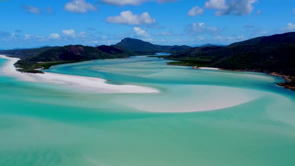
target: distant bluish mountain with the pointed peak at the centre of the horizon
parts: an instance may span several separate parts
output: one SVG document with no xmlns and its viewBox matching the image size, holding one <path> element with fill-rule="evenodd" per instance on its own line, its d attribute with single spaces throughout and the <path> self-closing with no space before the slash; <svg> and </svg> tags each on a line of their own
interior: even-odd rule
<svg viewBox="0 0 295 166">
<path fill-rule="evenodd" d="M 187 45 L 156 45 L 135 38 L 124 38 L 115 45 L 133 52 L 171 52 L 190 48 Z"/>
</svg>

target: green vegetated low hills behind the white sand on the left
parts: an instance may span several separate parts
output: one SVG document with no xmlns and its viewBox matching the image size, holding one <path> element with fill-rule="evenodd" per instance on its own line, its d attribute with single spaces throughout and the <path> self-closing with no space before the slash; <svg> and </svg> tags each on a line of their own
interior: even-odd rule
<svg viewBox="0 0 295 166">
<path fill-rule="evenodd" d="M 42 47 L 36 49 L 20 49 L 0 51 L 11 57 L 18 57 L 15 66 L 23 72 L 42 72 L 37 68 L 49 68 L 51 65 L 72 63 L 92 59 L 125 58 L 134 55 L 132 52 L 115 45 L 98 47 L 83 45 L 66 45 Z"/>
</svg>

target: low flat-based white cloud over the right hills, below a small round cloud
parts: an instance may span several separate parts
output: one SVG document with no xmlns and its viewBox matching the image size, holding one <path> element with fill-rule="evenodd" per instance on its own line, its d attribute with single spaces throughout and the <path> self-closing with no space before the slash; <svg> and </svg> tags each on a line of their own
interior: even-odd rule
<svg viewBox="0 0 295 166">
<path fill-rule="evenodd" d="M 217 33 L 218 28 L 213 26 L 206 26 L 205 23 L 196 23 L 193 22 L 185 27 L 185 31 L 189 33 Z"/>
</svg>

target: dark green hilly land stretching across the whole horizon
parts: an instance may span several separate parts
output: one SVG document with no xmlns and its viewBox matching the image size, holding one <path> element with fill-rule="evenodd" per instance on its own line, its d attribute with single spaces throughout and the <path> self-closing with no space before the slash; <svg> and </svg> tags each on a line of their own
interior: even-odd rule
<svg viewBox="0 0 295 166">
<path fill-rule="evenodd" d="M 52 65 L 92 59 L 126 58 L 170 52 L 171 55 L 150 56 L 173 60 L 169 65 L 212 67 L 232 71 L 263 72 L 281 76 L 280 86 L 295 90 L 295 32 L 260 36 L 227 46 L 205 44 L 156 45 L 135 38 L 124 38 L 115 45 L 65 45 L 33 49 L 0 50 L 0 54 L 20 58 L 15 67 L 20 72 L 42 73 Z"/>
</svg>

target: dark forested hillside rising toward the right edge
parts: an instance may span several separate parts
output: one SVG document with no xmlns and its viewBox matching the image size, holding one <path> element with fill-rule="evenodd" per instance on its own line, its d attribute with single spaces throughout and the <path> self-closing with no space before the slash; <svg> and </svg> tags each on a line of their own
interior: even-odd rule
<svg viewBox="0 0 295 166">
<path fill-rule="evenodd" d="M 191 65 L 295 76 L 295 32 L 256 37 L 222 47 L 194 47 L 164 58 Z"/>
</svg>

